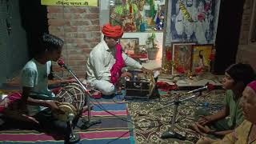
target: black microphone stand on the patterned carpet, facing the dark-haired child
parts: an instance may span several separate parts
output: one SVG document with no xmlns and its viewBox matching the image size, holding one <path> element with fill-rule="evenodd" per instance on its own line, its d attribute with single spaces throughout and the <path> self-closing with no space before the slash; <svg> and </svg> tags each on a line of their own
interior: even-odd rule
<svg viewBox="0 0 256 144">
<path fill-rule="evenodd" d="M 170 126 L 170 130 L 167 130 L 166 132 L 164 132 L 161 136 L 161 138 L 176 138 L 176 139 L 180 139 L 180 140 L 184 140 L 185 137 L 183 137 L 181 134 L 178 134 L 174 131 L 174 126 L 175 126 L 175 120 L 176 120 L 176 115 L 178 112 L 178 106 L 180 105 L 181 102 L 186 101 L 190 98 L 194 98 L 197 97 L 199 95 L 201 95 L 202 92 L 199 92 L 198 94 L 194 94 L 188 98 L 184 98 L 184 99 L 179 99 L 179 96 L 177 95 L 174 99 L 174 101 L 170 102 L 170 104 L 166 105 L 166 106 L 172 106 L 174 105 L 174 115 L 173 118 L 171 119 L 171 126 Z M 166 106 L 163 106 L 162 108 L 159 108 L 158 110 L 162 110 L 163 108 L 165 108 Z"/>
</svg>

